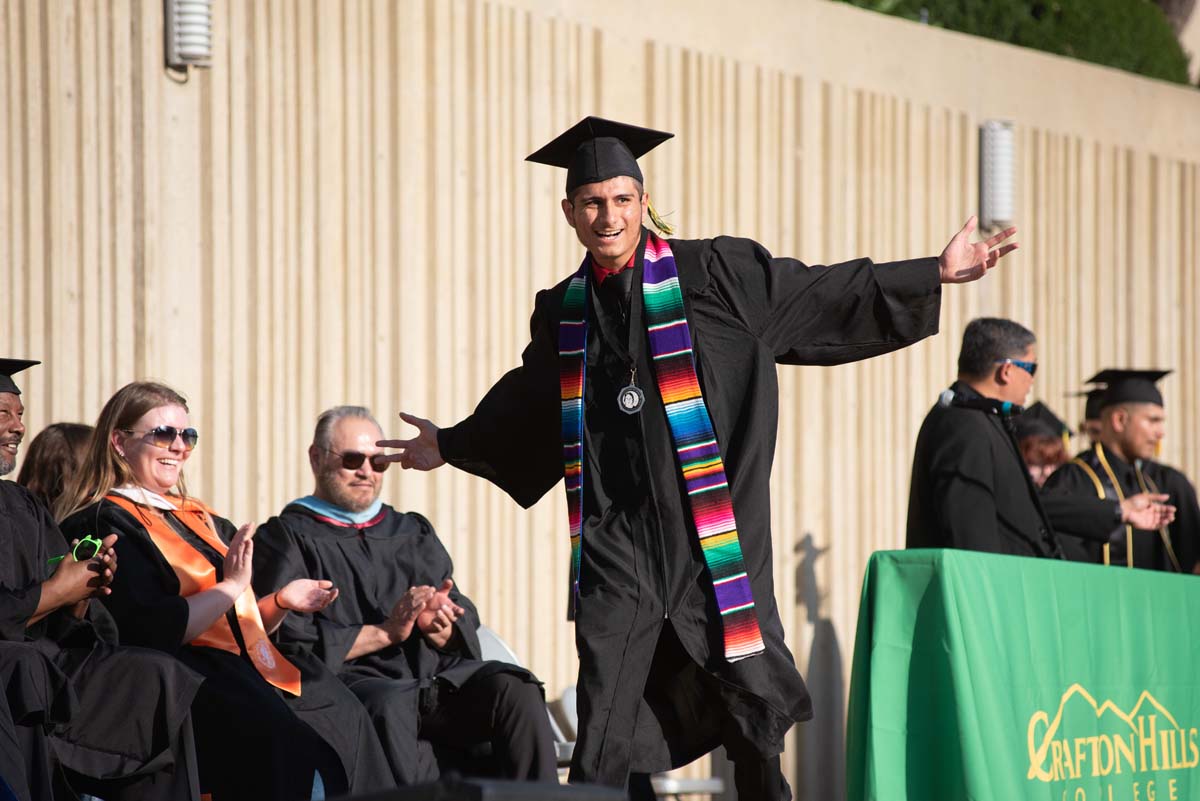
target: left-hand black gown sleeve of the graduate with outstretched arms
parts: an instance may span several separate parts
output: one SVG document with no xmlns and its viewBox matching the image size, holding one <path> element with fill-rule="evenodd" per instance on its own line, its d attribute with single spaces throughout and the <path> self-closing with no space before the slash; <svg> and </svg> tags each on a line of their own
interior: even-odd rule
<svg viewBox="0 0 1200 801">
<path fill-rule="evenodd" d="M 442 458 L 487 478 L 526 508 L 563 477 L 558 397 L 562 297 L 560 288 L 538 294 L 521 366 L 505 373 L 470 416 L 438 432 Z"/>
</svg>

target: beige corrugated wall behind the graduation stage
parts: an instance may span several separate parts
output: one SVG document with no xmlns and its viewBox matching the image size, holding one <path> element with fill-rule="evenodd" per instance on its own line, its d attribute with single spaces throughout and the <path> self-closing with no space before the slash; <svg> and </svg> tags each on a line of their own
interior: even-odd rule
<svg viewBox="0 0 1200 801">
<path fill-rule="evenodd" d="M 977 314 L 1040 337 L 1036 393 L 1164 366 L 1164 458 L 1200 472 L 1200 94 L 836 4 L 216 2 L 216 58 L 162 68 L 160 0 L 0 0 L 0 342 L 42 359 L 31 433 L 134 378 L 184 391 L 193 490 L 236 520 L 311 487 L 319 410 L 449 423 L 518 357 L 580 258 L 562 175 L 521 159 L 584 114 L 665 127 L 648 188 L 684 236 L 832 261 L 936 253 L 976 209 L 977 126 L 1018 131 L 1021 251 L 944 293 L 942 335 L 784 369 L 775 573 L 840 793 L 868 555 L 904 541 L 917 427 Z M 574 679 L 559 493 L 524 512 L 452 470 L 388 475 L 485 619 Z"/>
</svg>

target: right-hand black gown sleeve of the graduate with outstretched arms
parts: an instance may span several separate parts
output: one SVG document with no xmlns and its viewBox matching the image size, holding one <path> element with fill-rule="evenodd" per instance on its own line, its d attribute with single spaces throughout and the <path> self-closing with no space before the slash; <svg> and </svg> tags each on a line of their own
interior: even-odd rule
<svg viewBox="0 0 1200 801">
<path fill-rule="evenodd" d="M 762 245 L 721 236 L 709 273 L 742 320 L 790 365 L 840 365 L 937 333 L 937 259 L 809 266 Z"/>
</svg>

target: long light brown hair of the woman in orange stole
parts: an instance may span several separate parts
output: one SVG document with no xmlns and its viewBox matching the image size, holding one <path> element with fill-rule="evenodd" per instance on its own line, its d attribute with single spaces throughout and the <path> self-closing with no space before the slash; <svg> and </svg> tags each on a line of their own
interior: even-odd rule
<svg viewBox="0 0 1200 801">
<path fill-rule="evenodd" d="M 125 457 L 113 445 L 113 432 L 132 428 L 144 414 L 160 406 L 182 406 L 187 411 L 187 401 L 169 386 L 155 381 L 126 384 L 108 399 L 96 420 L 96 429 L 88 442 L 88 456 L 82 469 L 54 505 L 54 517 L 58 520 L 91 506 L 114 487 L 138 483 Z M 175 488 L 180 495 L 187 495 L 182 472 L 179 474 Z"/>
</svg>

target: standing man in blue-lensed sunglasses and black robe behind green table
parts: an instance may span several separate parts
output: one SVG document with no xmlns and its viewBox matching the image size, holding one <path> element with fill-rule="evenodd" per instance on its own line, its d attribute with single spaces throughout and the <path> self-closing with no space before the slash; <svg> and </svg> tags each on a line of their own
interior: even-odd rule
<svg viewBox="0 0 1200 801">
<path fill-rule="evenodd" d="M 1063 549 L 1056 532 L 1099 542 L 1122 519 L 1153 524 L 1170 514 L 1156 502 L 1162 496 L 1138 495 L 1122 499 L 1123 505 L 1039 496 L 1015 436 L 1037 367 L 1037 338 L 1025 326 L 1001 318 L 967 324 L 959 379 L 917 434 L 908 548 L 1058 559 Z"/>
</svg>

